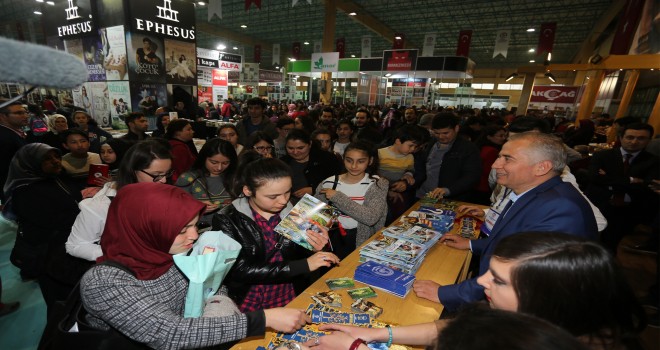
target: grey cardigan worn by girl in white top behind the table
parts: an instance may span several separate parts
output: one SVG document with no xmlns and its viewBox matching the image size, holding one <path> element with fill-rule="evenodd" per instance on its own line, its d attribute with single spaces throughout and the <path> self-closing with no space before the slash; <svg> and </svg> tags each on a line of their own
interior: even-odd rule
<svg viewBox="0 0 660 350">
<path fill-rule="evenodd" d="M 323 182 L 316 188 L 315 197 L 327 203 L 328 198 L 320 193 L 321 189 L 323 189 L 322 186 Z M 385 226 L 388 188 L 389 182 L 387 179 L 381 177 L 369 186 L 367 193 L 364 195 L 363 204 L 354 202 L 339 191 L 332 197 L 333 206 L 358 222 L 355 238 L 356 247 L 359 247 L 369 237 Z"/>
</svg>

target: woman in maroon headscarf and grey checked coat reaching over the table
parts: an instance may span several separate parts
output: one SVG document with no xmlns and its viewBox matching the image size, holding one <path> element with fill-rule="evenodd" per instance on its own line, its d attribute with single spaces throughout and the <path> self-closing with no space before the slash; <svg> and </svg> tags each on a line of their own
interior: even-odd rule
<svg viewBox="0 0 660 350">
<path fill-rule="evenodd" d="M 117 193 L 99 262 L 119 263 L 132 274 L 102 264 L 83 276 L 80 294 L 92 327 L 112 328 L 155 349 L 182 349 L 263 335 L 265 327 L 292 332 L 305 324 L 303 310 L 283 308 L 183 318 L 188 280 L 172 255 L 192 248 L 205 207 L 182 189 L 162 184 L 136 183 Z"/>
</svg>

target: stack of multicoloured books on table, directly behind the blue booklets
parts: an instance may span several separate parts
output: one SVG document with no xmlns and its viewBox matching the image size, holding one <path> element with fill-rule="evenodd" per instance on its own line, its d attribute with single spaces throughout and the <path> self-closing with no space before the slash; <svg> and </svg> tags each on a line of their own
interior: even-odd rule
<svg viewBox="0 0 660 350">
<path fill-rule="evenodd" d="M 427 250 L 423 245 L 409 240 L 381 236 L 360 249 L 360 261 L 373 261 L 414 274 L 424 261 Z"/>
</svg>

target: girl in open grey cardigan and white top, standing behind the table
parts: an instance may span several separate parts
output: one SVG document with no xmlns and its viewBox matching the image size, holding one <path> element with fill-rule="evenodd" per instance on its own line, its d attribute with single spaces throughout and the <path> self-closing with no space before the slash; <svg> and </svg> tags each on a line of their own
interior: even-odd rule
<svg viewBox="0 0 660 350">
<path fill-rule="evenodd" d="M 388 181 L 376 175 L 378 152 L 368 142 L 350 143 L 344 151 L 346 172 L 330 176 L 317 188 L 317 197 L 341 211 L 340 234 L 330 239 L 341 259 L 385 225 Z"/>
</svg>

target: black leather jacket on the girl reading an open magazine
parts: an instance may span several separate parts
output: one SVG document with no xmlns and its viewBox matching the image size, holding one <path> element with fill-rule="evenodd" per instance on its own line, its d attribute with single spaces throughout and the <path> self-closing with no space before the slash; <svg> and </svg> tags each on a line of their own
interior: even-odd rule
<svg viewBox="0 0 660 350">
<path fill-rule="evenodd" d="M 289 204 L 280 216 L 284 218 L 292 206 Z M 307 287 L 309 274 L 307 257 L 311 251 L 280 237 L 284 261 L 269 263 L 261 229 L 254 222 L 247 198 L 238 198 L 213 216 L 213 230 L 221 230 L 241 244 L 241 252 L 225 279 L 229 297 L 241 305 L 253 284 L 293 283 L 296 294 Z"/>
</svg>

